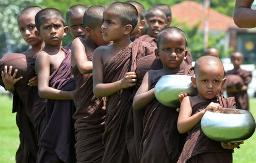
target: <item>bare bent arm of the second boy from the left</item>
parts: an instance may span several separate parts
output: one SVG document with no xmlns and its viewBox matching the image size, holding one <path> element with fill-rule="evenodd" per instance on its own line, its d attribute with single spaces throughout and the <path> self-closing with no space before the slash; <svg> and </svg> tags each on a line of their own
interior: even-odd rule
<svg viewBox="0 0 256 163">
<path fill-rule="evenodd" d="M 49 87 L 50 57 L 40 52 L 35 62 L 35 71 L 38 74 L 38 94 L 41 98 L 53 100 L 72 100 L 73 92 L 63 91 Z"/>
</svg>

